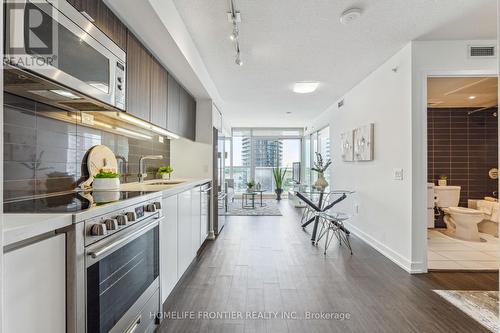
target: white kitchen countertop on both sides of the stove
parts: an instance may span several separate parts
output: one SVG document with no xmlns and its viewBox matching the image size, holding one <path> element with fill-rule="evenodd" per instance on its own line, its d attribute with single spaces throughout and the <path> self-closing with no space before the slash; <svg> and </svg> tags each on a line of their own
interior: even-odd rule
<svg viewBox="0 0 500 333">
<path fill-rule="evenodd" d="M 210 181 L 212 181 L 210 178 L 172 179 L 170 182 L 176 182 L 176 184 L 151 185 L 151 183 L 162 182 L 161 179 L 153 179 L 144 183 L 122 184 L 120 190 L 162 192 L 163 197 L 168 197 Z M 72 223 L 73 214 L 3 214 L 4 246 L 52 232 Z"/>
</svg>

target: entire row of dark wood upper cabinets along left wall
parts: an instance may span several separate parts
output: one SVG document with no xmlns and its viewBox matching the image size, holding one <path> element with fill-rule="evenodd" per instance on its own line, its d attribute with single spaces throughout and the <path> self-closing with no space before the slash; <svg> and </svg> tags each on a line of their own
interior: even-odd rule
<svg viewBox="0 0 500 333">
<path fill-rule="evenodd" d="M 195 140 L 196 101 L 104 4 L 67 0 L 127 53 L 126 112 Z"/>
</svg>

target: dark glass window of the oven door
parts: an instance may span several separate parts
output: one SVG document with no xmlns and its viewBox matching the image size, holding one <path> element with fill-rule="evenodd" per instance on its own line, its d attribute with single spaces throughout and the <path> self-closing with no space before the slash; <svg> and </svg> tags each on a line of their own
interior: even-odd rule
<svg viewBox="0 0 500 333">
<path fill-rule="evenodd" d="M 87 268 L 87 332 L 108 332 L 158 277 L 158 226 Z"/>
</svg>

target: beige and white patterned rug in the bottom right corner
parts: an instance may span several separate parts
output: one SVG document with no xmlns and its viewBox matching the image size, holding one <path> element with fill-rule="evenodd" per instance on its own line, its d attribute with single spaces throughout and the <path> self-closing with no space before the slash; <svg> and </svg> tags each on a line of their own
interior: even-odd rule
<svg viewBox="0 0 500 333">
<path fill-rule="evenodd" d="M 498 291 L 434 290 L 492 332 L 499 332 Z"/>
</svg>

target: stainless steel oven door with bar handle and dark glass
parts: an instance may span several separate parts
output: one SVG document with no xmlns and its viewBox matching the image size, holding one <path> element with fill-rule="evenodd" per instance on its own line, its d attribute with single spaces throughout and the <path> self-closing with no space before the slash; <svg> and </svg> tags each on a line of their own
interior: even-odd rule
<svg viewBox="0 0 500 333">
<path fill-rule="evenodd" d="M 152 216 L 86 249 L 87 332 L 126 332 L 130 327 L 130 332 L 137 333 L 154 326 L 159 301 L 159 221 Z M 141 311 L 150 299 L 153 311 Z"/>
</svg>

